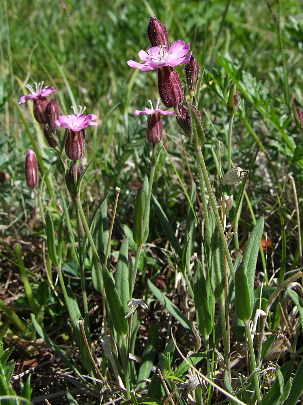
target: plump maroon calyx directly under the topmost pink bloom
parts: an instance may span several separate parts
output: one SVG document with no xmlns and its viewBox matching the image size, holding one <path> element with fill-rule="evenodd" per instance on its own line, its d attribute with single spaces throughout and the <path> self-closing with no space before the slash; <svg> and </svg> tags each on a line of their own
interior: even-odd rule
<svg viewBox="0 0 303 405">
<path fill-rule="evenodd" d="M 177 70 L 171 66 L 158 68 L 158 90 L 166 107 L 177 107 L 181 104 L 184 91 Z"/>
</svg>

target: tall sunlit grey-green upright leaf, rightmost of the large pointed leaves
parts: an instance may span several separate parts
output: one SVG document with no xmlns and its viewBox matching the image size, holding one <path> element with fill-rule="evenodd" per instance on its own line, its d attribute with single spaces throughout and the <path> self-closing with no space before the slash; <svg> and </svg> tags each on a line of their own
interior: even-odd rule
<svg viewBox="0 0 303 405">
<path fill-rule="evenodd" d="M 259 247 L 264 228 L 264 215 L 257 220 L 248 239 L 242 261 L 245 263 L 251 307 L 254 306 L 254 282 Z"/>
</svg>

